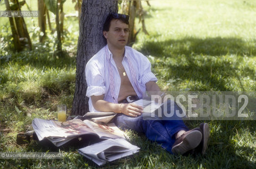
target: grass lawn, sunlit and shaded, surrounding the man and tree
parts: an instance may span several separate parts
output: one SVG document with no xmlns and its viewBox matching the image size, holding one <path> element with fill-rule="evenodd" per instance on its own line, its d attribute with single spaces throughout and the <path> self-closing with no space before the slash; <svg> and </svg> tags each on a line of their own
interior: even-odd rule
<svg viewBox="0 0 256 169">
<path fill-rule="evenodd" d="M 142 2 L 149 35 L 139 33 L 133 48 L 149 57 L 161 89 L 255 91 L 255 1 L 149 2 L 151 6 Z M 71 5 L 67 8 L 74 13 Z M 56 118 L 56 105 L 71 110 L 78 19 L 65 18 L 64 58 L 53 56 L 56 34 L 48 32 L 49 40 L 38 42 L 36 19 L 25 20 L 34 49 L 14 53 L 8 18 L 1 18 L 0 152 L 47 152 L 49 148 L 36 141 L 17 145 L 16 134 L 31 129 L 33 118 Z M 201 122 L 185 121 L 190 128 Z M 140 152 L 102 168 L 255 168 L 255 121 L 206 122 L 210 140 L 205 156 L 174 156 L 144 135 L 126 131 Z M 74 146 L 50 149 L 59 151 L 63 159 L 0 159 L 0 168 L 98 168 Z"/>
</svg>

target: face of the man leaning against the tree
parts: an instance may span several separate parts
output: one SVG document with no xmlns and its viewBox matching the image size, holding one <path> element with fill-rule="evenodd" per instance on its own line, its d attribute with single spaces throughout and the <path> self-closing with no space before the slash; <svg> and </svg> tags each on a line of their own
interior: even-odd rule
<svg viewBox="0 0 256 169">
<path fill-rule="evenodd" d="M 107 44 L 115 49 L 123 49 L 129 36 L 129 25 L 120 20 L 110 22 L 109 31 L 103 31 Z"/>
</svg>

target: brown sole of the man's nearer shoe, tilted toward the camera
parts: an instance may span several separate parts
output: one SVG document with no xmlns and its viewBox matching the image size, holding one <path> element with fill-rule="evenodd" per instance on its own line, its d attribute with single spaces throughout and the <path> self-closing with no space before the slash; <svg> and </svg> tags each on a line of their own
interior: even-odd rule
<svg viewBox="0 0 256 169">
<path fill-rule="evenodd" d="M 197 138 L 197 139 L 195 139 Z M 183 141 L 180 144 L 173 146 L 172 152 L 174 154 L 184 154 L 191 149 L 197 147 L 202 139 L 202 134 L 198 130 L 194 130 L 193 132 L 186 135 Z"/>
</svg>

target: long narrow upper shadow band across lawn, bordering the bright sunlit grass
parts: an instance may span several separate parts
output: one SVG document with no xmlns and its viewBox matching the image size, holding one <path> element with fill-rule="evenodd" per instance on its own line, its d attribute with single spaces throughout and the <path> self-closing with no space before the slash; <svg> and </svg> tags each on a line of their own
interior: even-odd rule
<svg viewBox="0 0 256 169">
<path fill-rule="evenodd" d="M 187 37 L 181 40 L 145 42 L 141 51 L 155 57 L 176 57 L 176 55 L 190 57 L 191 53 L 210 56 L 237 54 L 253 57 L 256 55 L 255 43 L 256 40 L 249 43 L 232 37 L 208 37 L 206 39 Z"/>
</svg>

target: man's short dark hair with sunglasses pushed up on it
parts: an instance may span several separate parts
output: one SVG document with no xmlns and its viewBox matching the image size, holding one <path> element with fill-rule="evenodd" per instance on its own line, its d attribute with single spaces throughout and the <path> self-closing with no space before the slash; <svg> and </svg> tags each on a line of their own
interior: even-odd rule
<svg viewBox="0 0 256 169">
<path fill-rule="evenodd" d="M 112 20 L 120 20 L 121 22 L 129 25 L 129 15 L 118 14 L 118 13 L 112 12 L 107 16 L 106 21 L 104 22 L 103 31 L 109 31 L 110 22 Z"/>
</svg>

